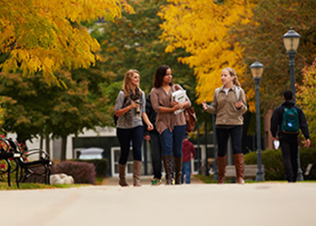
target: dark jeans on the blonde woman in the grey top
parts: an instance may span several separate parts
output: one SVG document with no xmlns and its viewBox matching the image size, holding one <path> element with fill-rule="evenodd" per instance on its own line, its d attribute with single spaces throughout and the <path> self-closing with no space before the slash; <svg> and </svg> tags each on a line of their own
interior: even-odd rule
<svg viewBox="0 0 316 226">
<path fill-rule="evenodd" d="M 118 163 L 127 163 L 129 150 L 132 142 L 134 160 L 142 161 L 142 144 L 144 137 L 144 127 L 116 128 L 116 136 L 121 147 Z"/>
</svg>

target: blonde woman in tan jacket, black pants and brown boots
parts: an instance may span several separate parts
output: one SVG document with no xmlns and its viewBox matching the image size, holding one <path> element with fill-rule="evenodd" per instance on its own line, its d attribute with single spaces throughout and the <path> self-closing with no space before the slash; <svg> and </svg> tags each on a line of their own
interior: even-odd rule
<svg viewBox="0 0 316 226">
<path fill-rule="evenodd" d="M 231 68 L 221 72 L 223 86 L 215 90 L 213 104 L 202 103 L 205 111 L 216 114 L 216 134 L 218 138 L 218 184 L 225 183 L 227 165 L 228 137 L 231 137 L 237 183 L 244 181 L 244 155 L 241 150 L 243 116 L 246 113 L 246 97 L 240 88 L 237 73 Z"/>
</svg>

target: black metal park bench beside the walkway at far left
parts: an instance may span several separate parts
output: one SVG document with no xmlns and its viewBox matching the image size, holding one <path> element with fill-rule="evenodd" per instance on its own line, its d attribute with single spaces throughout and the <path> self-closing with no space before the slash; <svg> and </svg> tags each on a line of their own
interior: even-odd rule
<svg viewBox="0 0 316 226">
<path fill-rule="evenodd" d="M 2 149 L 5 151 L 8 157 L 4 160 L 7 163 L 7 168 L 3 170 L 3 174 L 8 174 L 8 185 L 10 184 L 11 173 L 16 173 L 15 181 L 19 187 L 20 182 L 25 182 L 25 180 L 33 175 L 44 177 L 45 184 L 50 183 L 51 177 L 51 159 L 50 155 L 39 148 L 29 149 L 24 151 L 18 145 L 16 141 L 10 139 L 0 139 L 0 144 L 2 144 Z M 12 164 L 9 160 L 14 160 L 15 168 L 12 169 Z M 1 159 L 0 159 L 1 160 Z"/>
</svg>

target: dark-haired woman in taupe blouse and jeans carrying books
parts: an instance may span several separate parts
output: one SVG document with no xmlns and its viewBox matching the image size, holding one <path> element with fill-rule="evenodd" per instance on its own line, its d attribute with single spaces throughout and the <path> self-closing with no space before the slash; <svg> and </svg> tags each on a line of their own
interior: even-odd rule
<svg viewBox="0 0 316 226">
<path fill-rule="evenodd" d="M 158 67 L 155 72 L 151 102 L 153 109 L 158 113 L 156 129 L 162 141 L 163 166 L 166 184 L 173 184 L 172 155 L 174 162 L 175 184 L 181 184 L 182 140 L 186 130 L 184 111 L 189 108 L 191 101 L 185 96 L 184 102 L 172 101 L 172 93 L 181 89 L 180 85 L 172 84 L 172 70 L 167 65 Z"/>
</svg>

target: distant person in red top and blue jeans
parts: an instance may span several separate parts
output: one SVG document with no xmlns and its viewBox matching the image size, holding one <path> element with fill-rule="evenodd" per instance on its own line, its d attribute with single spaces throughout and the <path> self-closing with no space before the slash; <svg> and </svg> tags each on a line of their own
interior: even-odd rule
<svg viewBox="0 0 316 226">
<path fill-rule="evenodd" d="M 185 175 L 185 184 L 191 184 L 191 159 L 195 158 L 195 147 L 189 141 L 189 134 L 185 133 L 182 142 L 182 175 L 181 184 L 183 184 L 183 179 Z"/>
</svg>

